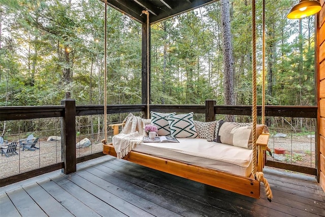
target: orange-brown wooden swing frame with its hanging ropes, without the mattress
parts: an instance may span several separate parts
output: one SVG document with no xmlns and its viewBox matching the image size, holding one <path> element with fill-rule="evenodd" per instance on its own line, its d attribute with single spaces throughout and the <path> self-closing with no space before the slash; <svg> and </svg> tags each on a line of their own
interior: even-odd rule
<svg viewBox="0 0 325 217">
<path fill-rule="evenodd" d="M 105 33 L 106 33 L 106 5 L 107 0 L 105 0 Z M 265 7 L 265 1 L 263 1 L 263 9 Z M 269 188 L 269 184 L 266 179 L 263 177 L 263 168 L 266 161 L 266 150 L 269 140 L 268 133 L 262 133 L 256 138 L 256 46 L 255 46 L 255 0 L 252 0 L 252 24 L 253 24 L 253 33 L 252 33 L 252 40 L 253 40 L 253 107 L 252 107 L 252 116 L 253 116 L 253 129 L 252 129 L 252 137 L 253 137 L 253 169 L 252 174 L 250 177 L 234 175 L 228 172 L 223 172 L 219 170 L 208 169 L 200 166 L 195 166 L 191 164 L 185 164 L 174 160 L 169 160 L 165 158 L 151 156 L 149 154 L 131 151 L 129 152 L 123 159 L 129 162 L 133 162 L 151 169 L 159 170 L 162 172 L 166 172 L 169 174 L 177 175 L 186 179 L 190 179 L 193 181 L 198 181 L 204 184 L 209 184 L 213 187 L 217 187 L 220 189 L 228 190 L 231 192 L 235 192 L 238 194 L 242 194 L 248 197 L 258 199 L 260 197 L 260 182 L 263 181 L 266 185 L 266 192 L 269 201 L 272 199 L 272 192 Z M 147 15 L 147 29 L 149 29 L 149 12 L 148 10 L 142 11 L 143 14 Z M 265 10 L 263 10 L 263 19 Z M 263 20 L 263 24 L 264 20 Z M 265 34 L 263 34 L 263 42 Z M 147 39 L 149 38 L 149 30 L 147 30 Z M 105 50 L 106 50 L 106 35 L 105 35 Z M 147 40 L 147 70 L 149 69 L 149 42 Z M 263 52 L 264 43 L 263 43 Z M 265 55 L 263 56 L 265 58 Z M 263 58 L 263 76 L 265 78 L 265 64 Z M 106 59 L 106 52 L 105 52 L 105 59 Z M 106 62 L 105 62 L 106 63 Z M 105 68 L 106 71 L 106 68 Z M 147 72 L 147 76 L 149 77 L 149 73 Z M 147 96 L 149 97 L 149 80 L 147 79 Z M 264 79 L 263 79 L 264 80 Z M 106 72 L 105 72 L 105 81 L 106 81 Z M 264 85 L 264 82 L 263 82 Z M 263 87 L 264 90 L 264 87 Z M 105 98 L 106 98 L 106 86 L 105 86 Z M 263 94 L 263 102 L 264 102 L 265 94 Z M 106 101 L 105 101 L 106 102 Z M 150 101 L 147 99 L 147 115 L 149 116 L 149 105 Z M 106 104 L 105 104 L 106 107 Z M 262 109 L 262 123 L 264 123 L 264 107 Z M 114 149 L 113 144 L 107 144 L 107 114 L 104 112 L 105 118 L 105 139 L 103 140 L 103 153 L 109 154 L 111 156 L 117 157 L 116 151 Z M 149 117 L 147 117 L 149 118 Z M 115 125 L 109 125 L 113 128 L 114 135 L 119 133 L 120 127 L 123 127 L 124 123 L 119 123 Z M 256 178 L 257 176 L 257 178 Z M 269 193 L 268 193 L 269 191 Z"/>
</svg>

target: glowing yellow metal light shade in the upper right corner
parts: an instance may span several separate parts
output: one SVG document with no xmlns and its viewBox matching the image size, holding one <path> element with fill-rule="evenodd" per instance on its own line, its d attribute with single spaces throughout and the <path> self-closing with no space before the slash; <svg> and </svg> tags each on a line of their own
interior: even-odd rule
<svg viewBox="0 0 325 217">
<path fill-rule="evenodd" d="M 300 19 L 303 17 L 308 17 L 310 15 L 316 14 L 320 11 L 321 6 L 318 1 L 313 0 L 300 0 L 299 4 L 291 8 L 288 15 L 289 19 Z"/>
</svg>

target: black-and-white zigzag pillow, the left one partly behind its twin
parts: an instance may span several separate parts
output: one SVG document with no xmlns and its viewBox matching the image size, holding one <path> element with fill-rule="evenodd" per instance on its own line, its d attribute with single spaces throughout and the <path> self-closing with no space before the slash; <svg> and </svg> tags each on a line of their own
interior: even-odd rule
<svg viewBox="0 0 325 217">
<path fill-rule="evenodd" d="M 168 117 L 174 115 L 173 113 L 159 113 L 159 112 L 151 112 L 151 125 L 157 127 L 157 134 L 159 136 L 170 136 L 171 130 L 169 128 Z"/>
</svg>

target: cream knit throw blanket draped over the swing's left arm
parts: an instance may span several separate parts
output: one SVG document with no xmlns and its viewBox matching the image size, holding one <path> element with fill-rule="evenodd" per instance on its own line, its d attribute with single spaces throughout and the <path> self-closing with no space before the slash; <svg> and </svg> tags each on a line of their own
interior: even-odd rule
<svg viewBox="0 0 325 217">
<path fill-rule="evenodd" d="M 122 131 L 112 138 L 117 159 L 125 157 L 137 144 L 140 144 L 145 134 L 145 123 L 141 117 L 129 113 L 125 120 Z"/>
</svg>

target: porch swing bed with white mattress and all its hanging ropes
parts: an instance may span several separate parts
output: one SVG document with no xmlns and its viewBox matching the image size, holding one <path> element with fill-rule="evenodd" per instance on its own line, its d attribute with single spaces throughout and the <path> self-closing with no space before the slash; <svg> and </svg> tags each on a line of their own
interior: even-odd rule
<svg viewBox="0 0 325 217">
<path fill-rule="evenodd" d="M 268 181 L 264 178 L 263 167 L 266 159 L 266 150 L 269 139 L 268 132 L 262 132 L 257 135 L 257 104 L 256 104 L 256 38 L 255 38 L 255 1 L 252 1 L 252 122 L 251 122 L 251 148 L 235 147 L 229 144 L 207 141 L 203 138 L 178 138 L 180 143 L 143 143 L 138 142 L 136 145 L 130 145 L 122 155 L 114 144 L 107 143 L 107 69 L 106 69 L 106 28 L 107 28 L 107 0 L 105 0 L 105 65 L 104 65 L 104 121 L 105 121 L 105 139 L 103 142 L 103 152 L 118 159 L 124 160 L 149 167 L 155 170 L 177 175 L 193 181 L 211 185 L 220 189 L 228 190 L 252 198 L 259 198 L 260 182 L 265 185 L 265 191 L 268 200 L 271 202 L 272 191 Z M 147 29 L 149 29 L 149 10 L 143 10 L 142 14 L 146 15 Z M 263 20 L 265 20 L 265 1 L 263 1 Z M 149 39 L 149 30 L 146 31 L 146 38 Z M 265 54 L 265 29 L 263 31 L 263 53 Z M 146 46 L 146 76 L 147 76 L 147 106 L 146 114 L 150 114 L 150 60 L 149 60 L 149 40 Z M 265 56 L 265 55 L 264 55 Z M 263 78 L 265 78 L 265 57 L 263 58 Z M 263 99 L 262 99 L 262 125 L 264 125 L 265 113 L 265 83 L 263 80 Z M 140 117 L 138 117 L 140 118 Z M 146 119 L 148 120 L 148 119 Z M 141 121 L 138 121 L 138 123 Z M 139 131 L 144 129 L 144 121 Z M 125 132 L 121 126 L 127 125 L 120 123 L 112 125 L 114 135 L 118 136 Z M 142 128 L 142 129 L 141 129 Z M 126 135 L 126 134 L 124 134 Z M 141 135 L 141 134 L 140 134 Z M 215 134 L 216 135 L 216 134 Z M 114 136 L 114 137 L 115 137 Z M 143 135 L 142 135 L 143 136 Z M 113 137 L 113 143 L 114 143 Z M 124 139 L 124 138 L 123 138 Z M 189 148 L 190 146 L 190 148 Z"/>
</svg>

